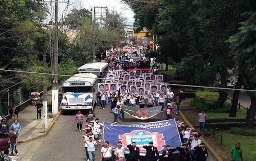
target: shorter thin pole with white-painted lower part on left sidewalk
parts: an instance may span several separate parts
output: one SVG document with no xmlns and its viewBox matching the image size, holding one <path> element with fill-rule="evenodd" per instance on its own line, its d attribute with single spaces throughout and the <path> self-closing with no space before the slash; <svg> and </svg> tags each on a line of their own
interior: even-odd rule
<svg viewBox="0 0 256 161">
<path fill-rule="evenodd" d="M 44 68 L 46 68 L 46 53 L 44 53 Z M 45 75 L 45 80 L 46 80 L 46 75 Z M 47 87 L 46 84 L 44 83 L 44 88 L 43 88 L 43 107 L 44 107 L 44 129 L 46 130 L 48 128 L 48 109 L 47 109 Z"/>
</svg>

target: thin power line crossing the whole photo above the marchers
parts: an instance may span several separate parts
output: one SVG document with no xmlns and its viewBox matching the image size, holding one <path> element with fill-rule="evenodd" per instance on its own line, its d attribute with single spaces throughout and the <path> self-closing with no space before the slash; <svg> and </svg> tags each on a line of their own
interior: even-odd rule
<svg viewBox="0 0 256 161">
<path fill-rule="evenodd" d="M 27 71 L 7 70 L 7 69 L 0 69 L 0 71 L 17 72 L 17 73 L 30 73 L 30 74 L 44 74 L 44 75 L 51 75 L 51 76 L 57 75 L 57 76 L 64 76 L 64 77 L 74 77 L 74 76 L 65 75 L 65 74 L 27 72 Z M 75 76 L 75 77 L 78 77 L 78 78 L 93 78 L 93 77 L 82 77 L 82 76 Z M 113 80 L 113 79 L 107 79 L 107 78 L 97 78 L 97 79 L 99 79 L 99 80 Z M 130 81 L 130 82 L 138 82 L 138 81 Z M 154 84 L 161 85 L 163 83 L 154 83 Z M 232 90 L 232 91 L 256 92 L 256 90 L 251 90 L 251 89 L 221 88 L 221 87 L 210 87 L 210 86 L 200 86 L 200 85 L 185 85 L 185 84 L 173 84 L 173 83 L 164 83 L 164 84 L 172 85 L 172 86 L 194 87 L 194 88 L 225 89 L 225 90 Z"/>
</svg>

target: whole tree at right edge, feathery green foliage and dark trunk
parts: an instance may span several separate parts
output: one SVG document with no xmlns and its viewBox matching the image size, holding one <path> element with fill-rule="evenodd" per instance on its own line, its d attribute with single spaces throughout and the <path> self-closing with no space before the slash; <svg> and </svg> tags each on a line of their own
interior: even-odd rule
<svg viewBox="0 0 256 161">
<path fill-rule="evenodd" d="M 228 42 L 232 53 L 236 56 L 236 64 L 240 71 L 243 71 L 245 83 L 249 89 L 256 89 L 256 12 L 245 12 L 247 20 L 239 23 L 241 27 L 237 34 L 232 35 Z M 241 66 L 243 64 L 243 66 Z M 246 129 L 253 129 L 256 112 L 255 92 L 249 92 L 251 106 L 246 113 Z"/>
</svg>

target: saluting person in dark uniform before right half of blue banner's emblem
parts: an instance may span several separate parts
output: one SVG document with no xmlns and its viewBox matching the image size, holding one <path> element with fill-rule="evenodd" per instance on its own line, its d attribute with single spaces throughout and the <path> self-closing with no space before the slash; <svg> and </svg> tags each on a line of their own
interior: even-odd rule
<svg viewBox="0 0 256 161">
<path fill-rule="evenodd" d="M 153 146 L 153 142 L 149 142 L 148 146 L 144 145 L 144 149 L 146 149 L 146 161 L 159 161 L 159 153 L 157 147 Z"/>
</svg>

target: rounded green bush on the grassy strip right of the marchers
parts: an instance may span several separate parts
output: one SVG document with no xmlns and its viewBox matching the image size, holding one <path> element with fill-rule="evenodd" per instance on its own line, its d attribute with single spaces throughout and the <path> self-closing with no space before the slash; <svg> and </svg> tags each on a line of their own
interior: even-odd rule
<svg viewBox="0 0 256 161">
<path fill-rule="evenodd" d="M 191 99 L 190 104 L 195 106 L 200 111 L 229 113 L 231 103 L 225 101 L 222 108 L 214 109 L 214 105 L 218 100 L 219 93 L 210 91 L 197 91 L 195 98 Z"/>
</svg>

